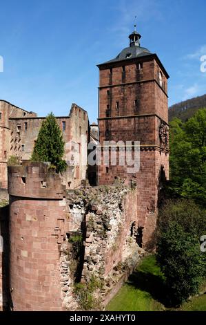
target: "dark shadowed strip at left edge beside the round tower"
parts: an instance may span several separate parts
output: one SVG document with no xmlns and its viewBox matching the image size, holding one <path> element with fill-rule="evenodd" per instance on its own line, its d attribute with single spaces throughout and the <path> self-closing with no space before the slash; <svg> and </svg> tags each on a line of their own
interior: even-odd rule
<svg viewBox="0 0 206 325">
<path fill-rule="evenodd" d="M 2 252 L 2 298 L 3 298 L 3 311 L 10 310 L 10 239 L 9 239 L 9 206 L 0 207 L 0 235 L 3 239 L 3 252 Z"/>
</svg>

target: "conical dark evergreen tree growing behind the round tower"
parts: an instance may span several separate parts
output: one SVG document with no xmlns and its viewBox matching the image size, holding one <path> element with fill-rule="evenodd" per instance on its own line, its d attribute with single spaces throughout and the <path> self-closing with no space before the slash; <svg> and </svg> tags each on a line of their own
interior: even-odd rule
<svg viewBox="0 0 206 325">
<path fill-rule="evenodd" d="M 64 145 L 61 129 L 56 123 L 54 114 L 50 113 L 41 124 L 31 160 L 48 161 L 54 166 L 56 172 L 65 171 L 67 165 L 62 159 Z"/>
</svg>

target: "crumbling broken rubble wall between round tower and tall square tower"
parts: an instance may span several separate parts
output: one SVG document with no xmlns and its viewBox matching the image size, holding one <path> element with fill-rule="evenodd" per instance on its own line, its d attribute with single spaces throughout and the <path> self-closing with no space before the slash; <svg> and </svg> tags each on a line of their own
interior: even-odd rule
<svg viewBox="0 0 206 325">
<path fill-rule="evenodd" d="M 68 192 L 70 230 L 83 230 L 84 257 L 81 282 L 84 290 L 93 277 L 101 286 L 94 293 L 94 306 L 102 308 L 134 270 L 145 252 L 138 236 L 136 189 L 116 180 L 114 185 L 82 187 Z M 70 268 L 70 263 L 69 263 Z M 77 294 L 81 301 L 81 293 Z"/>
</svg>

